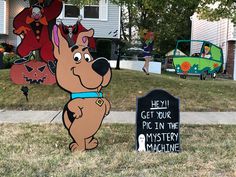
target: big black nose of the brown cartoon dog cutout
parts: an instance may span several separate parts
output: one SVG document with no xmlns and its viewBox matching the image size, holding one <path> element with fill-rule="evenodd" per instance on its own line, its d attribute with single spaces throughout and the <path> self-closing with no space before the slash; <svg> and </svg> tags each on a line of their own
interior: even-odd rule
<svg viewBox="0 0 236 177">
<path fill-rule="evenodd" d="M 92 65 L 93 70 L 100 76 L 105 76 L 110 68 L 110 64 L 105 58 L 98 58 Z"/>
</svg>

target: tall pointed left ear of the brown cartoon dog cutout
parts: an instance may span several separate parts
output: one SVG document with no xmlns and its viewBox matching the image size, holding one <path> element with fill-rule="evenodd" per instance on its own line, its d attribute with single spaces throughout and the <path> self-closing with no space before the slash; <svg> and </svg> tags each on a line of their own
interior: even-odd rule
<svg viewBox="0 0 236 177">
<path fill-rule="evenodd" d="M 57 25 L 54 25 L 52 32 L 52 43 L 54 46 L 54 56 L 57 60 L 60 58 L 60 53 L 66 47 L 68 48 L 68 43 L 61 34 L 61 31 Z"/>
</svg>

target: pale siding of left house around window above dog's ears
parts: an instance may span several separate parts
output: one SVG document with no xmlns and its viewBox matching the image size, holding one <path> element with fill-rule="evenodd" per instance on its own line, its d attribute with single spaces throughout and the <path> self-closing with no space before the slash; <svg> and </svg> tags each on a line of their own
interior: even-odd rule
<svg viewBox="0 0 236 177">
<path fill-rule="evenodd" d="M 74 25 L 77 19 L 63 18 L 63 13 L 59 17 L 65 25 Z M 58 19 L 57 22 L 60 20 Z M 107 20 L 99 19 L 83 19 L 83 26 L 87 29 L 93 28 L 95 30 L 94 37 L 96 38 L 120 38 L 120 7 L 108 1 Z M 117 35 L 114 32 L 117 31 Z"/>
</svg>

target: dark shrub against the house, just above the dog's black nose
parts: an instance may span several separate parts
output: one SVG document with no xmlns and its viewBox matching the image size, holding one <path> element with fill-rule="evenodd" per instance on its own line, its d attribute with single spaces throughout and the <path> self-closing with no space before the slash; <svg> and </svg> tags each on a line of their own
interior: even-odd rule
<svg viewBox="0 0 236 177">
<path fill-rule="evenodd" d="M 97 57 L 105 57 L 111 59 L 111 40 L 98 39 L 97 40 Z"/>
</svg>

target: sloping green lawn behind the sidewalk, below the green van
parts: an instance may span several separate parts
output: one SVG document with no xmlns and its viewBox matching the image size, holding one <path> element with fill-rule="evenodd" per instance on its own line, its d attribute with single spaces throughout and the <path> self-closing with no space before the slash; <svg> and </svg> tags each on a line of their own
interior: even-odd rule
<svg viewBox="0 0 236 177">
<path fill-rule="evenodd" d="M 29 102 L 21 86 L 10 81 L 9 70 L 0 71 L 0 109 L 61 110 L 69 94 L 56 84 L 29 85 Z M 180 79 L 175 74 L 151 74 L 113 70 L 112 82 L 103 91 L 112 110 L 135 110 L 136 97 L 153 89 L 165 89 L 180 98 L 181 111 L 236 111 L 236 82 L 232 80 Z"/>
</svg>

